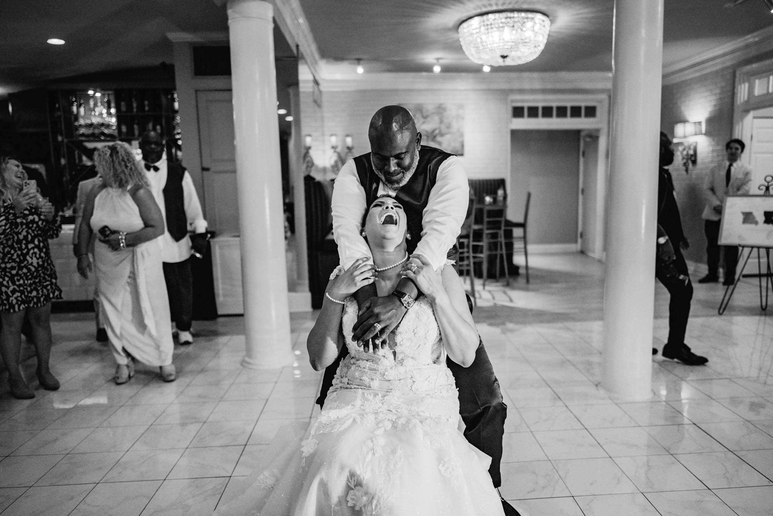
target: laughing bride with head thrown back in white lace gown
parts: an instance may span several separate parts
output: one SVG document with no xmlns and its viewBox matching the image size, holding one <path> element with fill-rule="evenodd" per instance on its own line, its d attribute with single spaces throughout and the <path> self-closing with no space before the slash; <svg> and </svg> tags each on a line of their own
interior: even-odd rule
<svg viewBox="0 0 773 516">
<path fill-rule="evenodd" d="M 489 457 L 458 430 L 459 404 L 449 357 L 468 366 L 478 332 L 454 268 L 432 270 L 407 259 L 400 203 L 380 197 L 364 234 L 376 268 L 356 261 L 328 285 L 308 336 L 319 371 L 349 347 L 321 414 L 308 430 L 282 432 L 250 477 L 247 491 L 222 516 L 497 516 L 502 502 Z M 390 267 L 390 265 L 392 265 Z M 380 296 L 404 276 L 424 296 L 383 347 L 352 342 L 357 304 L 350 296 L 376 283 Z"/>
</svg>

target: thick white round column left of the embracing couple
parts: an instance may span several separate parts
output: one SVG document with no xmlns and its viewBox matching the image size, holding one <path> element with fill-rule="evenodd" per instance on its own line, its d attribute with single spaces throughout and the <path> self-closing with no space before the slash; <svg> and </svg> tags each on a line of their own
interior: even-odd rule
<svg viewBox="0 0 773 516">
<path fill-rule="evenodd" d="M 292 364 L 284 257 L 274 9 L 260 0 L 228 0 L 233 126 L 241 237 L 244 330 L 242 365 Z"/>
</svg>

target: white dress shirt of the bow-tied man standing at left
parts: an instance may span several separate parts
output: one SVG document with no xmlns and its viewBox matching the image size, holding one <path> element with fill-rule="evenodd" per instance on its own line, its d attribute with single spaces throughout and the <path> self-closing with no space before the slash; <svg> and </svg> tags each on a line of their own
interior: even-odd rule
<svg viewBox="0 0 773 516">
<path fill-rule="evenodd" d="M 146 170 L 145 162 L 140 160 L 140 166 L 145 171 L 145 176 L 150 183 L 150 191 L 153 193 L 155 202 L 158 203 L 158 207 L 161 208 L 161 213 L 164 216 L 164 234 L 158 237 L 158 241 L 161 243 L 162 260 L 166 263 L 185 261 L 191 255 L 190 237 L 186 234 L 181 241 L 175 242 L 175 239 L 172 238 L 172 235 L 169 234 L 169 230 L 166 228 L 166 207 L 164 203 L 164 186 L 166 186 L 167 176 L 166 159 L 156 163 L 148 163 L 148 165 L 158 167 L 158 172 L 154 172 L 153 169 Z M 201 210 L 199 196 L 196 195 L 196 187 L 193 186 L 193 179 L 191 179 L 187 170 L 185 175 L 182 176 L 182 194 L 185 197 L 183 204 L 186 209 L 188 231 L 203 233 L 206 231 L 206 220 L 204 220 L 204 214 Z"/>
</svg>

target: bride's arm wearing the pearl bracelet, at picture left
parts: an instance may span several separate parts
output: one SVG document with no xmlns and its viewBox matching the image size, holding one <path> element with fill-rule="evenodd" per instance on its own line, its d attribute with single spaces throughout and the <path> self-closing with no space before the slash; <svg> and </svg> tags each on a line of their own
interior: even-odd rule
<svg viewBox="0 0 773 516">
<path fill-rule="evenodd" d="M 373 265 L 367 264 L 367 259 L 356 260 L 346 272 L 330 280 L 328 288 L 325 289 L 322 311 L 306 340 L 308 360 L 315 371 L 322 371 L 332 364 L 341 350 L 343 302 L 360 287 L 373 283 Z"/>
</svg>

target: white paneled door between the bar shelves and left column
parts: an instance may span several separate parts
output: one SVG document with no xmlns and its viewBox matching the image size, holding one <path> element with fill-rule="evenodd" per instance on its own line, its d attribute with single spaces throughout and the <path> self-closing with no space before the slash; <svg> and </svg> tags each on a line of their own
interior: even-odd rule
<svg viewBox="0 0 773 516">
<path fill-rule="evenodd" d="M 209 227 L 220 235 L 239 232 L 236 146 L 230 91 L 197 91 L 204 204 Z"/>
</svg>

